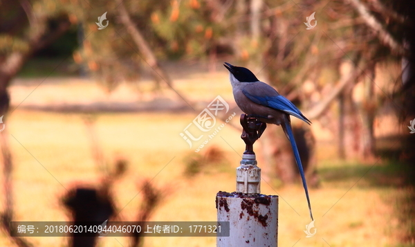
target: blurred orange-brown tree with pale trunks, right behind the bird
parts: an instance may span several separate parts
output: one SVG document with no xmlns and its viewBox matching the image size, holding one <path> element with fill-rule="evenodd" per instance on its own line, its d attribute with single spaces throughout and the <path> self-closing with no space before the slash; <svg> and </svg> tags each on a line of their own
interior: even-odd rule
<svg viewBox="0 0 415 247">
<path fill-rule="evenodd" d="M 255 1 L 250 3 L 254 5 Z M 358 0 L 351 1 L 351 4 L 338 1 L 302 1 L 297 4 L 264 1 L 260 15 L 261 48 L 256 48 L 255 42 L 241 48 L 247 53 L 240 59 L 249 57 L 250 62 L 262 61 L 261 67 L 266 71 L 268 82 L 279 93 L 305 108 L 304 115 L 309 119 L 335 122 L 327 109 L 338 99 L 339 125 L 331 128 L 339 133 L 339 154 L 344 158 L 374 156 L 374 117 L 379 102 L 389 102 L 397 111 L 401 110 L 391 100 L 392 92 L 387 85 L 374 82 L 376 64 L 396 61 L 405 53 L 401 39 L 408 24 L 402 22 L 405 19 L 403 15 L 393 10 L 385 14 L 387 19 L 382 18 L 385 10 L 393 7 L 390 5 L 388 2 L 362 3 Z M 257 10 L 250 10 L 248 15 L 253 24 Z M 319 25 L 313 30 L 305 30 L 306 26 L 298 17 L 305 20 L 316 10 Z M 257 28 L 251 25 L 250 30 L 245 31 L 245 36 L 249 37 L 257 32 Z M 363 84 L 363 100 L 353 97 L 358 83 Z M 380 90 L 375 91 L 375 87 Z M 273 167 L 280 167 L 277 168 L 279 177 L 291 183 L 295 167 L 284 165 L 289 163 L 292 154 L 290 149 L 284 148 L 288 145 L 284 139 L 279 139 L 283 140 L 282 143 L 277 140 L 282 136 L 264 136 L 268 143 L 264 145 L 266 160 Z"/>
</svg>

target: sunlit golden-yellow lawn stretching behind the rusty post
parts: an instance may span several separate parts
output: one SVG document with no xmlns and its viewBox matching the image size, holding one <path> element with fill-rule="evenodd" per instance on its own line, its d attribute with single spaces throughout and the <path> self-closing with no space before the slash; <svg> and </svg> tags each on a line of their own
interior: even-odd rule
<svg viewBox="0 0 415 247">
<path fill-rule="evenodd" d="M 37 93 L 42 95 L 42 90 Z M 211 94 L 217 95 L 217 92 Z M 216 192 L 234 191 L 234 168 L 239 165 L 244 145 L 240 132 L 226 126 L 205 149 L 214 145 L 222 149 L 228 167 L 205 169 L 193 179 L 186 178 L 184 157 L 195 148 L 190 149 L 179 133 L 197 114 L 94 115 L 95 132 L 105 159 L 113 163 L 116 157 L 122 156 L 129 161 L 126 174 L 113 188 L 117 210 L 122 209 L 123 220 L 134 219 L 141 200 L 138 193 L 141 181 L 146 178 L 153 179 L 160 187 L 167 185 L 171 190 L 152 220 L 216 220 Z M 16 221 L 66 221 L 68 214 L 59 200 L 66 190 L 74 185 L 100 183 L 102 174 L 94 163 L 83 118 L 83 113 L 24 109 L 17 109 L 10 115 L 6 128 L 15 163 Z M 239 125 L 239 118 L 232 122 Z M 270 187 L 276 183 L 262 182 L 263 194 L 280 196 L 279 246 L 399 246 L 398 237 L 403 226 L 399 226 L 396 210 L 399 209 L 398 199 L 405 198 L 406 189 L 397 186 L 399 182 L 396 181 L 374 183 L 389 174 L 389 170 L 382 169 L 389 167 L 388 163 L 379 161 L 371 168 L 373 163 L 340 162 L 333 159 L 333 143 L 320 142 L 317 148 L 321 186 L 310 190 L 317 228 L 314 237 L 306 238 L 303 232 L 310 219 L 302 187 Z M 55 237 L 28 240 L 35 246 L 64 246 L 66 241 Z M 128 246 L 128 240 L 124 237 L 99 239 L 100 246 Z M 11 246 L 3 233 L 0 246 Z M 148 237 L 145 246 L 216 246 L 216 239 Z"/>
</svg>

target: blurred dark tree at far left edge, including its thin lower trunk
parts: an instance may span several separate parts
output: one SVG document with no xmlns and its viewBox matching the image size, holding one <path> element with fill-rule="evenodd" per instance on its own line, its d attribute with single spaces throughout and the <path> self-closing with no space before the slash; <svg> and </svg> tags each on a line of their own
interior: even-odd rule
<svg viewBox="0 0 415 247">
<path fill-rule="evenodd" d="M 0 2 L 0 116 L 7 120 L 10 105 L 8 86 L 31 55 L 49 46 L 75 22 L 64 7 L 50 0 Z M 13 219 L 12 156 L 7 130 L 1 132 L 3 154 L 5 207 L 1 212 L 1 227 L 10 232 Z M 18 246 L 29 246 L 20 238 L 13 238 Z"/>
</svg>

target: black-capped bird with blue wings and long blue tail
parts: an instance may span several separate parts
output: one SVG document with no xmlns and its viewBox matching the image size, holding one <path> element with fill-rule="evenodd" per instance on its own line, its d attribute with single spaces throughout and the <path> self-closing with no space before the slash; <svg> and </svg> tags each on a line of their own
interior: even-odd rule
<svg viewBox="0 0 415 247">
<path fill-rule="evenodd" d="M 306 193 L 310 217 L 314 221 L 306 177 L 304 176 L 301 159 L 299 158 L 297 144 L 294 140 L 290 116 L 295 116 L 308 125 L 311 125 L 311 121 L 290 100 L 280 95 L 272 86 L 259 81 L 248 68 L 233 66 L 227 62 L 223 66 L 230 72 L 230 84 L 232 85 L 234 100 L 237 102 L 238 107 L 248 116 L 259 118 L 261 122 L 281 125 L 288 140 L 290 140 Z"/>
</svg>

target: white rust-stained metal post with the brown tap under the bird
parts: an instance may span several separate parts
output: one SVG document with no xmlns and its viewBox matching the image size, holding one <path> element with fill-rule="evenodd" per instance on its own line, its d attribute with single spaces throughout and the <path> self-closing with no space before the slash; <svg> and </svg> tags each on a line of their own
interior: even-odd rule
<svg viewBox="0 0 415 247">
<path fill-rule="evenodd" d="M 230 222 L 230 236 L 217 237 L 217 247 L 268 246 L 277 247 L 278 196 L 259 194 L 261 168 L 253 152 L 253 144 L 266 128 L 258 118 L 241 115 L 246 143 L 241 166 L 237 168 L 236 192 L 218 192 L 218 221 Z"/>
</svg>

